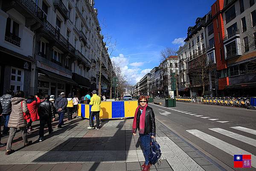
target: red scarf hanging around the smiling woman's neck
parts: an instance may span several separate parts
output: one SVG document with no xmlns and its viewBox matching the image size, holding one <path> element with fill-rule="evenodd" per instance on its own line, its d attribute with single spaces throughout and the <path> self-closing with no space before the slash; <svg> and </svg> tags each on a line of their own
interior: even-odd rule
<svg viewBox="0 0 256 171">
<path fill-rule="evenodd" d="M 134 114 L 134 122 L 132 124 L 132 133 L 136 133 L 136 128 L 137 128 L 137 114 L 139 109 L 143 110 L 141 115 L 140 115 L 140 130 L 139 133 L 143 134 L 144 133 L 144 128 L 145 128 L 145 113 L 146 113 L 146 108 L 147 108 L 148 104 L 146 104 L 144 107 L 142 106 L 138 106 L 135 114 Z"/>
</svg>

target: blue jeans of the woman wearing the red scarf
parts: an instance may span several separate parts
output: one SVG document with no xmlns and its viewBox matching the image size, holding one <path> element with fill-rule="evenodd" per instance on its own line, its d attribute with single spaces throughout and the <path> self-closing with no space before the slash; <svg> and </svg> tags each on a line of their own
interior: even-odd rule
<svg viewBox="0 0 256 171">
<path fill-rule="evenodd" d="M 150 134 L 140 134 L 140 143 L 145 158 L 145 165 L 149 164 Z"/>
</svg>

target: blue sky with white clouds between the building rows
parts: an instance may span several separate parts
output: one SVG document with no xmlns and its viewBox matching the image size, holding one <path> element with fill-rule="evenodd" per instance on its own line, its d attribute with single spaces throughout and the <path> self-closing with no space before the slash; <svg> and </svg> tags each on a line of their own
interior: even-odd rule
<svg viewBox="0 0 256 171">
<path fill-rule="evenodd" d="M 134 85 L 160 63 L 160 52 L 183 43 L 189 26 L 215 0 L 95 0 L 102 34 L 116 41 L 111 60 Z M 105 36 L 106 37 L 106 36 Z M 106 41 L 106 40 L 105 40 Z"/>
</svg>

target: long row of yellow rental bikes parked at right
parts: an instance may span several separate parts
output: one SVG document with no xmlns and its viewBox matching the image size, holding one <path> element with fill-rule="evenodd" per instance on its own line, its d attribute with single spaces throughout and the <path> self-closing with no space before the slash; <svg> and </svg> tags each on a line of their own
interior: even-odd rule
<svg viewBox="0 0 256 171">
<path fill-rule="evenodd" d="M 244 98 L 244 97 L 205 97 L 203 102 L 205 104 L 221 105 L 221 106 L 236 106 L 236 107 L 250 106 L 250 98 Z"/>
</svg>

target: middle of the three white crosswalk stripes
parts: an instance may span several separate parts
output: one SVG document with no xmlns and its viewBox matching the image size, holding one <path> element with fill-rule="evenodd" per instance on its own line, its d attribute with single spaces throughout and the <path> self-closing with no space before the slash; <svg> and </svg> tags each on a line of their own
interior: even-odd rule
<svg viewBox="0 0 256 171">
<path fill-rule="evenodd" d="M 229 136 L 233 139 L 237 139 L 241 142 L 244 142 L 244 143 L 247 143 L 247 144 L 250 144 L 250 145 L 253 145 L 256 147 L 256 140 L 255 139 L 252 139 L 252 138 L 249 138 L 247 136 L 243 136 L 243 135 L 240 135 L 238 133 L 233 133 L 231 131 L 228 131 L 228 130 L 224 130 L 224 129 L 221 129 L 221 128 L 209 128 L 209 130 L 213 130 L 217 133 L 221 133 L 225 136 Z"/>
</svg>

